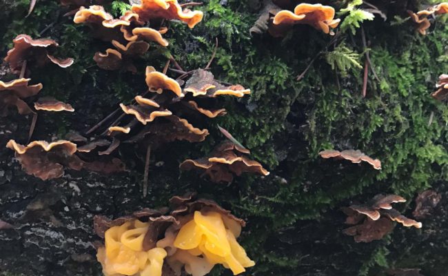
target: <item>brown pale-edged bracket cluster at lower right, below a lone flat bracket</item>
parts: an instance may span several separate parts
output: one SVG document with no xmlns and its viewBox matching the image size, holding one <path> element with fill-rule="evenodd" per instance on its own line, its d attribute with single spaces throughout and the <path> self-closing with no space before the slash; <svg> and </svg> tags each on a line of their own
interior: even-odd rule
<svg viewBox="0 0 448 276">
<path fill-rule="evenodd" d="M 398 195 L 376 195 L 367 204 L 343 208 L 343 212 L 348 216 L 345 223 L 353 225 L 343 230 L 343 233 L 353 236 L 355 242 L 372 242 L 382 239 L 393 230 L 392 221 L 397 221 L 405 227 L 421 228 L 420 222 L 401 215 L 391 206 L 405 201 L 406 199 Z"/>
</svg>

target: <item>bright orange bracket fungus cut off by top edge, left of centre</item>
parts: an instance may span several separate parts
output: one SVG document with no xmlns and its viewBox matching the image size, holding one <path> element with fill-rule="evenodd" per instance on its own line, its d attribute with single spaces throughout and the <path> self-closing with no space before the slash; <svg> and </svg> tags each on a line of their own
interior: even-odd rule
<svg viewBox="0 0 448 276">
<path fill-rule="evenodd" d="M 152 19 L 177 19 L 193 28 L 201 22 L 203 12 L 182 9 L 177 0 L 142 0 L 140 4 L 132 5 L 132 11 L 139 14 L 143 21 Z"/>
</svg>

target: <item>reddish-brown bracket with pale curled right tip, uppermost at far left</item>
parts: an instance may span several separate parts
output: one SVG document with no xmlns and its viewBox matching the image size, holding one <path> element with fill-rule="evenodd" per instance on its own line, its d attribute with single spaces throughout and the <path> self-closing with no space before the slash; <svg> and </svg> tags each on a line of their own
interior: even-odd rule
<svg viewBox="0 0 448 276">
<path fill-rule="evenodd" d="M 14 48 L 8 51 L 5 61 L 10 64 L 11 71 L 19 73 L 25 66 L 44 66 L 48 61 L 61 68 L 73 64 L 72 58 L 58 59 L 50 55 L 59 44 L 52 39 L 32 39 L 28 34 L 19 34 L 14 40 Z"/>
</svg>

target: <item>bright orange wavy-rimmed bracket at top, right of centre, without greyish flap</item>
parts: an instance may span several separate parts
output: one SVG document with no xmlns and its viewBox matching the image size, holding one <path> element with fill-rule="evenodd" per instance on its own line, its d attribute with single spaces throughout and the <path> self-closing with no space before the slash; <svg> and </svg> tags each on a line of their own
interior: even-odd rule
<svg viewBox="0 0 448 276">
<path fill-rule="evenodd" d="M 272 23 L 274 25 L 308 24 L 326 34 L 334 34 L 331 28 L 336 28 L 340 19 L 334 19 L 334 8 L 321 4 L 301 3 L 294 12 L 281 10 L 277 12 Z"/>
</svg>

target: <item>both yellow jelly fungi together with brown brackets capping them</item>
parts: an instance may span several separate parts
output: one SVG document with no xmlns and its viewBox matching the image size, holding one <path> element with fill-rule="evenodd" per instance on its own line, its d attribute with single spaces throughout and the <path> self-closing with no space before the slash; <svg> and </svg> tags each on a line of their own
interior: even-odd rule
<svg viewBox="0 0 448 276">
<path fill-rule="evenodd" d="M 145 208 L 110 220 L 94 217 L 104 238 L 96 255 L 106 276 L 203 276 L 216 264 L 234 275 L 254 266 L 236 241 L 245 221 L 214 201 L 173 197 L 172 211 Z"/>
</svg>

